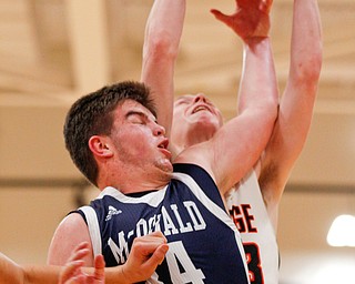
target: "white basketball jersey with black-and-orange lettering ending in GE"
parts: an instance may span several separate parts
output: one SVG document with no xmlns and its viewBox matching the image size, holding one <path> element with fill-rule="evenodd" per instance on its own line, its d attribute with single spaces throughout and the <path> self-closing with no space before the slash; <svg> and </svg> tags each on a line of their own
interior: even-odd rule
<svg viewBox="0 0 355 284">
<path fill-rule="evenodd" d="M 226 197 L 247 258 L 252 284 L 278 283 L 278 247 L 257 178 L 251 171 Z"/>
</svg>

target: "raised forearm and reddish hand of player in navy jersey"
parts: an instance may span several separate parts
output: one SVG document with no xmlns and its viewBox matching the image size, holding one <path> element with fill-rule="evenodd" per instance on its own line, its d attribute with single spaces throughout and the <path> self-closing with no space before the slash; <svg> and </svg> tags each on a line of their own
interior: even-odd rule
<svg viewBox="0 0 355 284">
<path fill-rule="evenodd" d="M 235 12 L 211 12 L 243 40 L 243 71 L 239 90 L 239 112 L 253 103 L 260 93 L 278 97 L 277 80 L 270 40 L 272 0 L 236 0 Z"/>
</svg>

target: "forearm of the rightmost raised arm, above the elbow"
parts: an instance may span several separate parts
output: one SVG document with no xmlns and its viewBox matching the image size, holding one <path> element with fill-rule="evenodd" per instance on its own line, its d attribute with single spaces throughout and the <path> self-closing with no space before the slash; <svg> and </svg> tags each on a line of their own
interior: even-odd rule
<svg viewBox="0 0 355 284">
<path fill-rule="evenodd" d="M 317 0 L 295 0 L 290 79 L 296 80 L 297 84 L 316 84 L 321 67 L 322 28 Z"/>
</svg>

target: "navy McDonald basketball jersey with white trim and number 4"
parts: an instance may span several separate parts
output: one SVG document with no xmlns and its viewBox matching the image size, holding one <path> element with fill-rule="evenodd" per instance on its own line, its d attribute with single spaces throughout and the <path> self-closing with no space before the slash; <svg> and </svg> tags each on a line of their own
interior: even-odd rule
<svg viewBox="0 0 355 284">
<path fill-rule="evenodd" d="M 175 164 L 169 185 L 141 196 L 106 187 L 79 213 L 106 266 L 126 261 L 134 237 L 154 231 L 166 236 L 165 260 L 146 283 L 248 283 L 240 234 L 200 166 Z"/>
</svg>

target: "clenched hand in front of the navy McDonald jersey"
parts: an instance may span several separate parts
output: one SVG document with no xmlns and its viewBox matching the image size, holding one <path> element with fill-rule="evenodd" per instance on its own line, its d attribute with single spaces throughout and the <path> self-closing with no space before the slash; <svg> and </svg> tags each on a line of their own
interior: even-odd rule
<svg viewBox="0 0 355 284">
<path fill-rule="evenodd" d="M 165 257 L 169 250 L 166 239 L 161 232 L 135 237 L 122 274 L 129 282 L 148 280 Z"/>
</svg>

